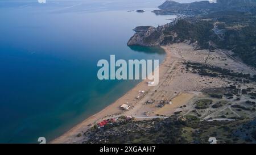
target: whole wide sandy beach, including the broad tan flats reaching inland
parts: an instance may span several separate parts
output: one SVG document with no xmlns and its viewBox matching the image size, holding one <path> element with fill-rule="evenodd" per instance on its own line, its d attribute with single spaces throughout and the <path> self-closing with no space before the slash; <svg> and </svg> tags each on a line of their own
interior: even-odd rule
<svg viewBox="0 0 256 155">
<path fill-rule="evenodd" d="M 174 112 L 181 110 L 189 111 L 189 100 L 194 97 L 200 97 L 202 95 L 200 90 L 227 85 L 225 79 L 201 77 L 199 74 L 185 72 L 183 64 L 185 61 L 216 65 L 227 69 L 241 69 L 237 71 L 245 73 L 255 72 L 247 66 L 243 66 L 244 64 L 235 62 L 235 60 L 227 57 L 221 51 L 195 51 L 192 45 L 185 43 L 167 45 L 162 48 L 166 51 L 166 57 L 162 64 L 159 65 L 159 84 L 157 86 L 148 86 L 147 80 L 142 81 L 123 97 L 77 124 L 62 136 L 51 141 L 51 143 L 82 143 L 82 136 L 77 136 L 79 133 L 84 133 L 94 124 L 108 118 L 117 118 L 124 115 L 133 116 L 135 119 L 141 120 L 150 116 L 170 116 Z M 220 61 L 223 58 L 226 61 Z M 142 90 L 144 90 L 144 93 L 141 93 Z M 155 104 L 145 104 L 148 100 L 154 100 Z M 156 103 L 159 103 L 160 100 L 172 101 L 172 104 L 166 104 L 164 107 L 159 108 Z M 127 111 L 122 110 L 120 108 L 122 104 L 128 104 L 131 108 Z"/>
</svg>

